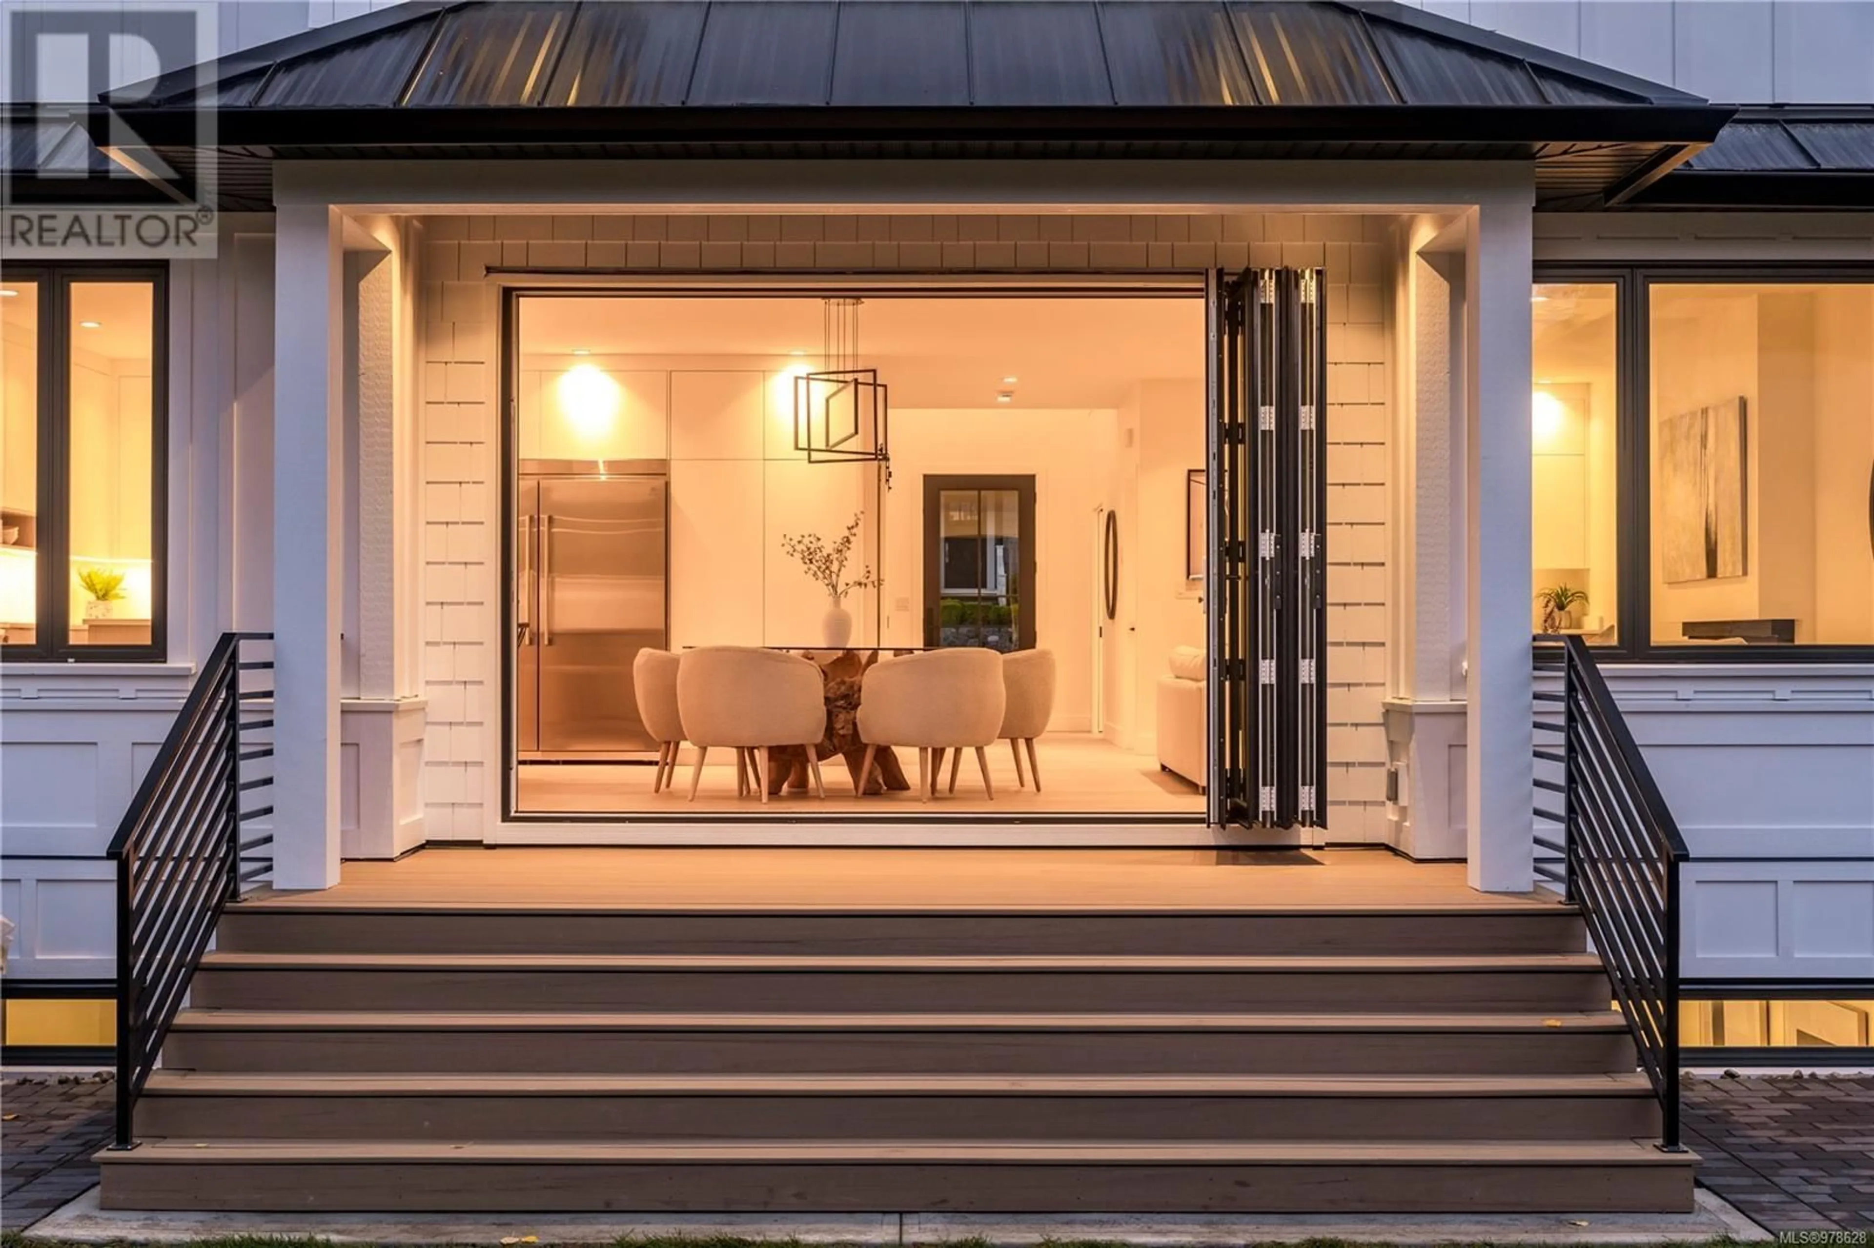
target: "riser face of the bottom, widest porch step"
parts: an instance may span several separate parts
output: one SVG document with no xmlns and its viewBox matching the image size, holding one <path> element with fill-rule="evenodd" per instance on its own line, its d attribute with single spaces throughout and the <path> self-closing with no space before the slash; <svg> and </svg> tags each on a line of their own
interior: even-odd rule
<svg viewBox="0 0 1874 1248">
<path fill-rule="evenodd" d="M 161 1164 L 112 1166 L 105 1209 L 249 1212 L 1649 1212 L 1668 1166 Z"/>
</svg>

